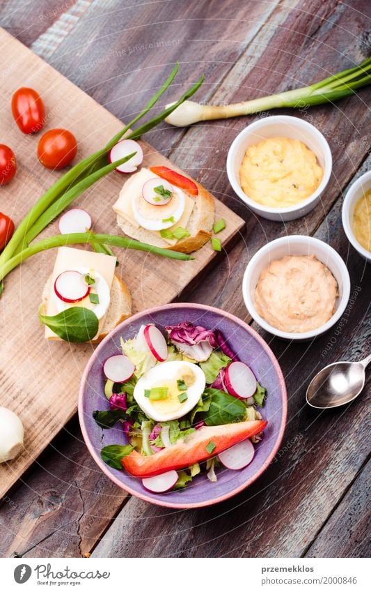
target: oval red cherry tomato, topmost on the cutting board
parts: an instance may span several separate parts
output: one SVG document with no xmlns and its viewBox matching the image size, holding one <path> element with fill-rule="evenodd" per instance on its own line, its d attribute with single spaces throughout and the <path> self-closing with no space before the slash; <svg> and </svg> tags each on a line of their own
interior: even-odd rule
<svg viewBox="0 0 371 592">
<path fill-rule="evenodd" d="M 12 98 L 12 113 L 19 130 L 35 134 L 44 126 L 45 108 L 40 95 L 33 89 L 18 89 Z"/>
</svg>

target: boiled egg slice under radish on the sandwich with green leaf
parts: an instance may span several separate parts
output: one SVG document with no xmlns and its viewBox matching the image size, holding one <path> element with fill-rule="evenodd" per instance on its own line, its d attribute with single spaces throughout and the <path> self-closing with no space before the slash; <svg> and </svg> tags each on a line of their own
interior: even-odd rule
<svg viewBox="0 0 371 592">
<path fill-rule="evenodd" d="M 89 269 L 88 267 L 72 268 L 69 271 L 75 271 L 81 274 L 81 284 L 86 284 L 86 275 L 90 275 L 91 278 L 94 278 L 95 283 L 90 285 L 90 291 L 88 291 L 85 298 L 75 302 L 66 302 L 65 300 L 62 300 L 54 290 L 54 298 L 58 312 L 62 312 L 72 306 L 81 306 L 92 310 L 98 319 L 102 319 L 104 314 L 106 314 L 111 301 L 109 285 L 106 280 L 104 280 L 104 277 L 99 272 Z M 86 287 L 88 287 L 88 284 L 86 284 Z"/>
</svg>

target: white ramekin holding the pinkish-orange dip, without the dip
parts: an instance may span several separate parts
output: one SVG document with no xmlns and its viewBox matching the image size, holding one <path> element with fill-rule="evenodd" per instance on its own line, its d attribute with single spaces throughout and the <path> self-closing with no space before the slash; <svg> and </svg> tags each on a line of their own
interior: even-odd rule
<svg viewBox="0 0 371 592">
<path fill-rule="evenodd" d="M 260 273 L 262 273 L 271 261 L 281 259 L 285 255 L 315 255 L 319 261 L 322 261 L 329 268 L 338 282 L 339 296 L 336 298 L 336 310 L 333 316 L 322 327 L 313 329 L 313 331 L 307 331 L 306 333 L 281 331 L 269 325 L 265 319 L 262 319 L 255 308 L 255 288 L 256 284 L 258 284 Z M 350 294 L 349 272 L 336 250 L 327 243 L 319 241 L 318 238 L 300 235 L 283 236 L 264 245 L 264 247 L 255 253 L 251 261 L 249 261 L 242 282 L 242 294 L 251 317 L 265 331 L 269 331 L 272 335 L 285 340 L 308 341 L 319 337 L 319 335 L 322 335 L 322 333 L 333 327 L 347 308 Z"/>
</svg>

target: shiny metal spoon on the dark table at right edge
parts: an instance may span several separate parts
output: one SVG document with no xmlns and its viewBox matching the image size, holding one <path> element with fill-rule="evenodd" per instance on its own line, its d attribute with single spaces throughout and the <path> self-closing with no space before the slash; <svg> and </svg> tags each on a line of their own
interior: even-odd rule
<svg viewBox="0 0 371 592">
<path fill-rule="evenodd" d="M 315 375 L 306 391 L 310 407 L 328 409 L 353 401 L 365 386 L 371 354 L 360 362 L 336 362 Z"/>
</svg>

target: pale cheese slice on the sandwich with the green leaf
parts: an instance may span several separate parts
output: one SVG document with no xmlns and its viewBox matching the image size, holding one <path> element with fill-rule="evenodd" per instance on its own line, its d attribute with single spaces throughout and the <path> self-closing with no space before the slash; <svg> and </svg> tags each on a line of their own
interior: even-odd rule
<svg viewBox="0 0 371 592">
<path fill-rule="evenodd" d="M 53 317 L 54 314 L 58 314 L 54 294 L 54 282 L 56 281 L 56 278 L 58 278 L 58 275 L 63 271 L 68 271 L 69 269 L 77 269 L 81 267 L 95 269 L 98 273 L 102 275 L 104 280 L 106 280 L 108 287 L 111 290 L 113 276 L 115 275 L 116 269 L 116 257 L 111 257 L 111 255 L 104 255 L 103 253 L 96 253 L 94 251 L 85 251 L 82 249 L 74 249 L 71 247 L 60 247 L 58 248 L 58 252 L 56 254 L 56 261 L 54 263 L 52 278 L 49 285 L 46 312 L 48 317 Z M 71 304 L 71 306 L 81 306 L 84 305 L 83 302 L 84 301 L 81 301 L 80 303 L 73 303 Z M 85 306 L 86 308 L 90 308 L 87 299 Z M 102 333 L 104 319 L 105 315 L 104 317 L 102 317 L 102 319 L 100 319 L 98 335 Z M 54 333 L 54 331 L 52 331 L 52 329 L 49 329 L 49 327 L 45 325 L 45 338 L 55 339 L 56 337 L 58 336 Z"/>
</svg>

